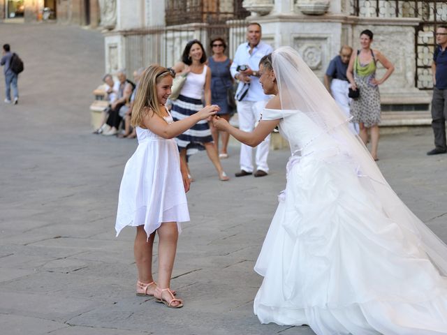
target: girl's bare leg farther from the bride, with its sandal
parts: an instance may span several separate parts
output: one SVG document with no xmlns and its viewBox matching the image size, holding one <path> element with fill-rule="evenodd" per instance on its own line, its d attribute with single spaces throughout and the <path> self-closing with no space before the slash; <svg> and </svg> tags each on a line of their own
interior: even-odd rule
<svg viewBox="0 0 447 335">
<path fill-rule="evenodd" d="M 154 246 L 155 232 L 147 234 L 143 225 L 137 227 L 137 234 L 133 244 L 133 255 L 135 256 L 135 263 L 138 269 L 138 281 L 142 283 L 151 283 L 152 278 L 152 246 Z M 147 294 L 153 295 L 155 285 L 147 288 Z"/>
</svg>

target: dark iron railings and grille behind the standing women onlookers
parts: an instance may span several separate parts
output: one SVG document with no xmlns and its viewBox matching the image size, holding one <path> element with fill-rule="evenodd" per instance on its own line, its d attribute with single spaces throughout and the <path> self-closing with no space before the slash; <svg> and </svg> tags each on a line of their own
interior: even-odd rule
<svg viewBox="0 0 447 335">
<path fill-rule="evenodd" d="M 217 36 L 226 40 L 226 54 L 232 58 L 245 40 L 248 15 L 242 0 L 166 0 L 166 26 L 122 31 L 126 69 L 173 66 L 193 39 L 210 55 L 210 40 Z"/>
</svg>

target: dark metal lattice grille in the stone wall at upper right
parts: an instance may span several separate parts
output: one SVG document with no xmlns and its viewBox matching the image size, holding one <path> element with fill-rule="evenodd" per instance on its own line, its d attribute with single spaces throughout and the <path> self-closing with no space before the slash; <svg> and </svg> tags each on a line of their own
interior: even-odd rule
<svg viewBox="0 0 447 335">
<path fill-rule="evenodd" d="M 360 17 L 416 17 L 415 83 L 418 89 L 432 89 L 432 59 L 437 26 L 447 24 L 447 1 L 439 0 L 351 0 L 351 14 Z"/>
</svg>

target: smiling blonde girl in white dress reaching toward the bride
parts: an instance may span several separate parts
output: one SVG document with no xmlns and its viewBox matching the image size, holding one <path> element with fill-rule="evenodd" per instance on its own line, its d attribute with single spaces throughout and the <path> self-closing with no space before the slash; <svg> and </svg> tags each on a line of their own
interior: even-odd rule
<svg viewBox="0 0 447 335">
<path fill-rule="evenodd" d="M 165 107 L 175 72 L 149 66 L 142 75 L 133 107 L 132 126 L 138 147 L 126 163 L 121 186 L 117 235 L 127 225 L 136 227 L 134 244 L 138 269 L 137 295 L 154 296 L 170 308 L 183 306 L 170 290 L 180 222 L 189 221 L 185 192 L 189 190 L 186 167 L 181 164 L 174 138 L 198 121 L 219 111 L 210 105 L 190 117 L 173 121 Z M 152 278 L 152 246 L 159 234 L 159 278 Z"/>
</svg>

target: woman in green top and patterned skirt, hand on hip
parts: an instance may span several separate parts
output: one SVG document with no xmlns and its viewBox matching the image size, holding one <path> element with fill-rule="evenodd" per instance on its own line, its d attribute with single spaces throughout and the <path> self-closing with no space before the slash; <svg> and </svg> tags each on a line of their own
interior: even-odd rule
<svg viewBox="0 0 447 335">
<path fill-rule="evenodd" d="M 360 96 L 351 102 L 353 122 L 360 125 L 360 138 L 365 145 L 368 140 L 368 131 L 371 134 L 371 156 L 377 158 L 379 145 L 380 123 L 380 94 L 379 85 L 390 77 L 394 71 L 391 62 L 379 52 L 372 50 L 372 31 L 366 29 L 360 33 L 361 49 L 353 52 L 349 61 L 346 77 L 351 83 L 351 89 L 360 89 Z M 386 68 L 386 73 L 380 80 L 376 79 L 377 61 Z"/>
</svg>

